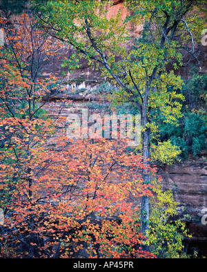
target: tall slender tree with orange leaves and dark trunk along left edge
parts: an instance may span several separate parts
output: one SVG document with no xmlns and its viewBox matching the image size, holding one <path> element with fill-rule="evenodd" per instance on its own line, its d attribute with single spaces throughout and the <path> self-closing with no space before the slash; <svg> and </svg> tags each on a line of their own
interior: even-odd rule
<svg viewBox="0 0 207 272">
<path fill-rule="evenodd" d="M 0 23 L 5 39 L 0 52 L 1 207 L 7 214 L 8 205 L 18 191 L 17 185 L 23 186 L 25 182 L 26 197 L 32 198 L 31 188 L 35 182 L 32 153 L 52 133 L 51 120 L 42 109 L 45 103 L 39 100 L 50 94 L 49 87 L 57 83 L 57 79 L 50 76 L 40 80 L 42 68 L 46 67 L 51 54 L 55 54 L 55 46 L 38 30 L 31 14 L 21 15 L 14 23 L 1 17 Z M 31 211 L 29 207 L 28 211 Z M 27 222 L 28 230 L 34 229 L 32 213 Z M 28 239 L 32 242 L 33 235 Z M 32 247 L 29 255 L 33 255 Z"/>
</svg>

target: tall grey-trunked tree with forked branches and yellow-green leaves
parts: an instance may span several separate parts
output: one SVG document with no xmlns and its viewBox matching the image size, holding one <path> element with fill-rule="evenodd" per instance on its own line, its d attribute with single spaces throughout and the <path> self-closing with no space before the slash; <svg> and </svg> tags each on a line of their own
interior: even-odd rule
<svg viewBox="0 0 207 272">
<path fill-rule="evenodd" d="M 199 14 L 203 4 L 204 1 L 195 0 L 126 1 L 130 16 L 122 23 L 120 12 L 117 17 L 107 19 L 107 5 L 110 4 L 103 1 L 48 1 L 39 14 L 46 32 L 77 50 L 66 65 L 75 67 L 77 58 L 85 56 L 90 64 L 101 68 L 120 86 L 121 91 L 113 94 L 117 101 L 133 101 L 137 105 L 141 114 L 145 165 L 150 163 L 152 109 L 159 107 L 168 122 L 176 123 L 181 115 L 179 99 L 184 98 L 175 90 L 181 88 L 182 81 L 174 72 L 182 64 L 181 50 L 197 58 L 195 38 L 201 32 L 201 21 L 206 18 L 205 13 L 202 18 Z M 129 52 L 124 48 L 124 43 L 130 38 L 127 22 L 144 24 L 146 38 Z M 121 61 L 116 61 L 116 56 L 120 56 Z M 170 63 L 172 66 L 167 70 L 166 65 Z M 169 86 L 173 87 L 172 92 L 168 92 Z M 169 150 L 172 145 L 169 142 L 167 145 Z M 177 152 L 169 154 L 171 159 L 176 155 Z M 145 170 L 143 177 L 146 184 L 150 183 L 150 175 Z M 148 196 L 143 196 L 143 233 L 148 230 L 148 203 Z"/>
</svg>

